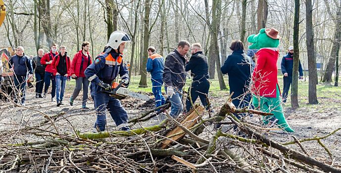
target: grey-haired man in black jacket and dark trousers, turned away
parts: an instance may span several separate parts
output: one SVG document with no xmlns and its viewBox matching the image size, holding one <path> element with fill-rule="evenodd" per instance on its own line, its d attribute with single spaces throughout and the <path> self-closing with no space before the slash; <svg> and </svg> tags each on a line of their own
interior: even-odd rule
<svg viewBox="0 0 341 173">
<path fill-rule="evenodd" d="M 186 72 L 191 70 L 191 76 L 193 77 L 193 82 L 188 92 L 191 94 L 191 100 L 194 104 L 197 97 L 200 98 L 202 105 L 209 110 L 207 103 L 207 95 L 210 87 L 208 78 L 208 62 L 207 57 L 202 53 L 201 44 L 194 43 L 191 46 L 191 59 L 186 64 Z M 186 100 L 186 112 L 189 112 L 192 104 L 190 98 Z"/>
</svg>

